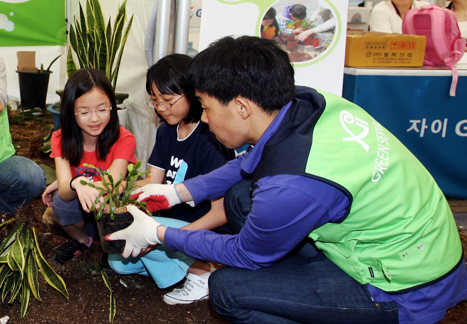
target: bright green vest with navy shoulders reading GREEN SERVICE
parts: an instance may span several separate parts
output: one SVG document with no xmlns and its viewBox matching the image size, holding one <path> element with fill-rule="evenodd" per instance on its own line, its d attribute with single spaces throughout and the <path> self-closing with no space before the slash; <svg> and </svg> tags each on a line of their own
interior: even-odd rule
<svg viewBox="0 0 467 324">
<path fill-rule="evenodd" d="M 289 131 L 296 131 L 268 141 L 254 181 L 278 173 L 302 174 L 345 193 L 347 217 L 309 236 L 361 284 L 402 293 L 447 276 L 462 262 L 462 248 L 451 209 L 430 173 L 365 110 L 319 92 L 325 103 L 306 118 L 297 113 L 306 111 L 306 105 L 294 99 L 278 132 L 283 136 L 290 124 L 296 126 Z M 304 145 L 307 136 L 308 146 L 291 148 L 294 141 Z M 287 153 L 285 168 L 272 159 L 280 152 L 293 152 Z"/>
</svg>

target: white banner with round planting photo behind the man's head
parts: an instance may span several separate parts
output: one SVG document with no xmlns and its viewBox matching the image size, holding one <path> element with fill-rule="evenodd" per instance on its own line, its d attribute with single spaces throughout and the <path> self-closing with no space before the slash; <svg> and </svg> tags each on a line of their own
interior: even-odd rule
<svg viewBox="0 0 467 324">
<path fill-rule="evenodd" d="M 199 48 L 225 35 L 271 39 L 289 53 L 297 84 L 341 95 L 347 4 L 330 0 L 204 0 Z"/>
</svg>

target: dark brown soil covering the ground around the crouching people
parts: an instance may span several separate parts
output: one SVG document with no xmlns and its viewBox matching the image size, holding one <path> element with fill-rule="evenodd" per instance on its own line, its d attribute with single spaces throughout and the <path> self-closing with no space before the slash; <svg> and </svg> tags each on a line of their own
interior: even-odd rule
<svg viewBox="0 0 467 324">
<path fill-rule="evenodd" d="M 52 117 L 48 111 L 32 120 L 16 116 L 10 124 L 13 143 L 17 154 L 33 159 L 38 164 L 55 168 L 53 159 L 40 151 L 42 139 L 52 127 Z M 466 213 L 466 200 L 450 200 L 454 212 Z M 34 200 L 15 214 L 15 222 L 26 222 L 39 233 L 42 253 L 47 255 L 52 248 L 67 240 L 64 232 L 57 227 L 42 223 L 45 211 L 42 200 Z M 0 220 L 2 221 L 2 220 Z M 467 231 L 460 231 L 464 250 L 467 251 Z M 0 236 L 2 234 L 0 233 Z M 106 288 L 99 268 L 100 242 L 92 244 L 86 260 L 79 258 L 64 265 L 51 266 L 63 277 L 70 299 L 66 299 L 47 283 L 41 283 L 42 303 L 31 296 L 26 316 L 20 317 L 20 304 L 0 303 L 0 318 L 9 316 L 8 323 L 54 323 L 54 324 L 105 324 L 109 321 L 109 290 Z M 186 305 L 168 305 L 163 302 L 163 294 L 169 290 L 159 290 L 155 283 L 143 276 L 109 276 L 116 299 L 115 324 L 228 324 L 213 310 L 206 300 Z M 265 283 L 266 284 L 266 283 Z M 181 286 L 179 284 L 176 287 Z M 448 311 L 439 324 L 466 324 L 467 302 L 461 302 Z"/>
</svg>

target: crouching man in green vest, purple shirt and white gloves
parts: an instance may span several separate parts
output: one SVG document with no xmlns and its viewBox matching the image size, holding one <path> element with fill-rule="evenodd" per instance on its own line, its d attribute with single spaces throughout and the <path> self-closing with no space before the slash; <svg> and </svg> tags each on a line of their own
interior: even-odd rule
<svg viewBox="0 0 467 324">
<path fill-rule="evenodd" d="M 250 148 L 208 174 L 134 193 L 150 210 L 225 195 L 236 234 L 164 227 L 130 208 L 133 224 L 108 237 L 127 240 L 123 256 L 164 243 L 225 264 L 209 278 L 210 299 L 233 323 L 430 324 L 467 297 L 443 193 L 366 111 L 295 86 L 287 53 L 252 36 L 212 43 L 189 83 L 219 141 Z"/>
</svg>

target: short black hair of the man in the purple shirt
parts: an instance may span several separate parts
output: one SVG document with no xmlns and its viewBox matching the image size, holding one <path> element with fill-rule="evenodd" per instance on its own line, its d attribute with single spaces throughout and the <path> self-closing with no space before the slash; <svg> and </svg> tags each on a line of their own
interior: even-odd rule
<svg viewBox="0 0 467 324">
<path fill-rule="evenodd" d="M 223 37 L 198 53 L 188 84 L 227 105 L 243 97 L 272 114 L 295 95 L 289 55 L 272 40 L 255 36 Z"/>
</svg>

